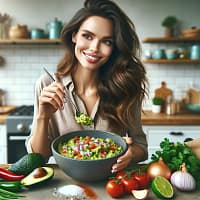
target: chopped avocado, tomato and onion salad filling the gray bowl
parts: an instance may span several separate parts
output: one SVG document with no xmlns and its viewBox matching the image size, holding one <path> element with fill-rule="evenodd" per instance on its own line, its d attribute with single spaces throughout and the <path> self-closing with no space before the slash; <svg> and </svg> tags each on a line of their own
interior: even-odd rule
<svg viewBox="0 0 200 200">
<path fill-rule="evenodd" d="M 58 145 L 61 155 L 78 160 L 97 160 L 111 158 L 121 153 L 123 148 L 111 138 L 75 136 Z"/>
</svg>

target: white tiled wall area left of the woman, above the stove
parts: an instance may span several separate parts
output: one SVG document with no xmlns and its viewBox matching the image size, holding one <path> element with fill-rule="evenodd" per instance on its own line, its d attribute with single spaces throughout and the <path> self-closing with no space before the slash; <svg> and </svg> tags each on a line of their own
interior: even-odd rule
<svg viewBox="0 0 200 200">
<path fill-rule="evenodd" d="M 0 67 L 0 88 L 7 91 L 8 105 L 33 104 L 34 85 L 44 73 L 53 72 L 63 51 L 59 45 L 4 45 L 0 55 L 5 66 Z"/>
</svg>

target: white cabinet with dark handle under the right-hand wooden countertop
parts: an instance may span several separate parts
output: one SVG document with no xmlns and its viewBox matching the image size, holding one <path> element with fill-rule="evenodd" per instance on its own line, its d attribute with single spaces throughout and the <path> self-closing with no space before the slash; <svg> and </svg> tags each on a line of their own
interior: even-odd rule
<svg viewBox="0 0 200 200">
<path fill-rule="evenodd" d="M 200 138 L 200 126 L 164 126 L 152 125 L 143 126 L 144 132 L 147 135 L 148 153 L 150 161 L 151 155 L 160 149 L 160 142 L 164 138 L 168 138 L 171 142 L 184 142 L 192 138 Z"/>
</svg>

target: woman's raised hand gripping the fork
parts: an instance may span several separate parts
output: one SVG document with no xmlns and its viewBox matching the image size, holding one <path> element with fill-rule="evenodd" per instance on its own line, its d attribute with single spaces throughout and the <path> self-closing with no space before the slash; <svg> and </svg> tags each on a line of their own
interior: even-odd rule
<svg viewBox="0 0 200 200">
<path fill-rule="evenodd" d="M 53 82 L 44 87 L 39 97 L 40 118 L 50 118 L 58 109 L 63 109 L 64 86 L 60 82 Z"/>
</svg>

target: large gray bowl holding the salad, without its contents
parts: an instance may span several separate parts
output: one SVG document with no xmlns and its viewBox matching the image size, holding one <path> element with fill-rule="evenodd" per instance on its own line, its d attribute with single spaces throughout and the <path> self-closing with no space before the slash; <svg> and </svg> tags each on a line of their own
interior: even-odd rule
<svg viewBox="0 0 200 200">
<path fill-rule="evenodd" d="M 66 142 L 75 136 L 93 136 L 98 138 L 111 138 L 118 145 L 122 146 L 123 151 L 115 157 L 105 158 L 99 160 L 77 160 L 62 156 L 58 152 L 58 144 L 60 142 Z M 58 166 L 69 176 L 79 181 L 100 181 L 105 180 L 112 175 L 111 170 L 114 163 L 116 163 L 117 158 L 124 154 L 127 149 L 127 144 L 122 137 L 105 131 L 93 131 L 93 130 L 83 130 L 74 131 L 67 133 L 65 135 L 56 138 L 51 149 L 53 156 L 56 160 Z M 113 175 L 112 175 L 113 176 Z"/>
</svg>

